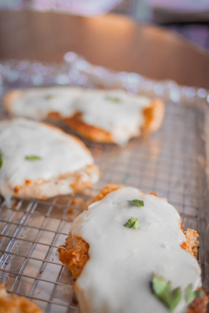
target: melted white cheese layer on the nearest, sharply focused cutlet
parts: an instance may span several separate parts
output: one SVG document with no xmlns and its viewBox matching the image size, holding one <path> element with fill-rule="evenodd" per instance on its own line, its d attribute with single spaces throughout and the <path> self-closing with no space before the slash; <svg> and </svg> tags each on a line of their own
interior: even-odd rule
<svg viewBox="0 0 209 313">
<path fill-rule="evenodd" d="M 133 199 L 143 200 L 144 207 L 128 204 Z M 138 218 L 139 229 L 123 226 L 131 216 Z M 90 259 L 75 285 L 81 312 L 170 312 L 151 292 L 153 272 L 182 288 L 174 312 L 185 312 L 185 288 L 201 286 L 201 277 L 196 259 L 180 247 L 185 236 L 179 219 L 165 200 L 133 187 L 111 192 L 81 213 L 71 226 L 72 235 L 90 245 Z"/>
</svg>

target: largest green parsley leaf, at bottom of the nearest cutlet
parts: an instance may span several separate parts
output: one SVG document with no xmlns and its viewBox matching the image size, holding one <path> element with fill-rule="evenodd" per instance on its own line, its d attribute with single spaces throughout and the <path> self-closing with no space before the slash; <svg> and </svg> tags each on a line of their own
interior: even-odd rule
<svg viewBox="0 0 209 313">
<path fill-rule="evenodd" d="M 175 309 L 182 298 L 181 288 L 171 289 L 171 282 L 166 282 L 165 279 L 156 273 L 153 273 L 152 288 L 154 294 L 159 298 L 171 311 Z"/>
</svg>

